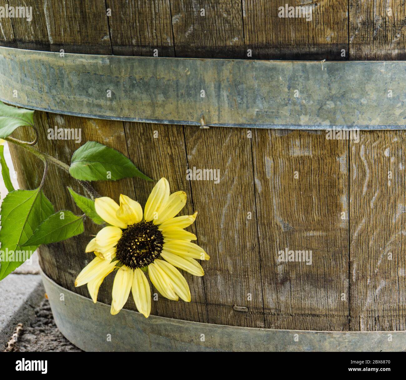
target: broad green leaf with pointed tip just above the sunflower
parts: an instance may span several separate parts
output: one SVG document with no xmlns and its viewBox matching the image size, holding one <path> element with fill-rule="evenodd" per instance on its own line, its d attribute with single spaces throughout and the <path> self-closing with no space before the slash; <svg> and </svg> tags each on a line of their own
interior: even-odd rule
<svg viewBox="0 0 406 380">
<path fill-rule="evenodd" d="M 119 180 L 127 177 L 151 181 L 123 154 L 96 141 L 88 141 L 73 153 L 69 173 L 73 178 L 84 181 Z"/>
</svg>

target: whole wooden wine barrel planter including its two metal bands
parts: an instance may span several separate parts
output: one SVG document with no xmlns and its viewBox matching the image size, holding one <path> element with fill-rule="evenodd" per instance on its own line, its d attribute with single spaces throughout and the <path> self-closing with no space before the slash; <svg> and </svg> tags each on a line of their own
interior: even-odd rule
<svg viewBox="0 0 406 380">
<path fill-rule="evenodd" d="M 406 230 L 406 139 L 401 130 L 405 124 L 401 87 L 405 68 L 402 62 L 376 63 L 382 65 L 377 74 L 372 66 L 355 62 L 328 66 L 330 60 L 349 58 L 404 59 L 403 40 L 391 40 L 394 30 L 404 29 L 400 22 L 385 24 L 376 34 L 368 29 L 369 24 L 358 24 L 358 20 L 371 19 L 373 14 L 384 12 L 383 7 L 368 5 L 364 9 L 350 4 L 348 9 L 348 2 L 338 0 L 321 2 L 310 23 L 279 18 L 281 4 L 270 5 L 265 0 L 205 1 L 199 9 L 186 0 L 129 1 L 126 7 L 113 0 L 25 3 L 33 7 L 35 28 L 22 19 L 0 20 L 0 46 L 12 48 L 0 49 L 0 79 L 7 84 L 0 85 L 0 98 L 38 110 L 35 125 L 40 151 L 69 164 L 79 146 L 99 141 L 125 154 L 149 177 L 166 177 L 171 190 L 184 190 L 188 195 L 184 214 L 199 213 L 190 231 L 211 256 L 203 263 L 205 276 L 185 274 L 192 302 L 159 297 L 152 302 L 151 317 L 145 320 L 135 312 L 131 297 L 124 306 L 126 310 L 108 316 L 106 305 L 111 303 L 114 276 L 104 280 L 99 290 L 100 303 L 96 305 L 86 287 L 74 287 L 74 279 L 91 259 L 84 248 L 89 235 L 97 233 L 97 226 L 87 220 L 84 234 L 42 246 L 39 255 L 45 287 L 56 323 L 68 339 L 85 350 L 402 349 L 406 342 L 402 244 Z M 111 9 L 109 16 L 106 7 Z M 201 16 L 200 9 L 205 9 L 205 16 Z M 333 10 L 335 16 L 330 17 Z M 75 17 L 67 16 L 73 13 Z M 327 29 L 331 31 L 329 38 L 325 36 Z M 394 48 L 396 43 L 399 46 Z M 393 54 L 389 47 L 385 48 L 389 44 L 396 51 Z M 21 50 L 15 49 L 25 50 L 25 58 L 19 55 Z M 152 58 L 156 52 L 158 58 Z M 13 56 L 19 56 L 19 61 Z M 128 61 L 117 56 L 127 56 Z M 138 59 L 137 65 L 143 67 L 143 73 L 160 72 L 162 75 L 156 76 L 158 84 L 175 75 L 165 73 L 165 67 L 183 67 L 184 61 L 178 59 L 198 58 L 193 65 L 207 68 L 212 64 L 214 72 L 220 63 L 205 59 L 224 59 L 224 65 L 232 64 L 235 71 L 218 71 L 211 79 L 207 72 L 199 72 L 196 78 L 195 72 L 185 67 L 185 78 L 193 75 L 192 83 L 207 87 L 205 104 L 209 106 L 196 110 L 192 106 L 197 100 L 190 100 L 190 92 L 180 91 L 182 96 L 179 91 L 169 92 L 169 98 L 179 98 L 175 105 L 166 107 L 158 96 L 161 87 L 151 92 L 150 81 L 151 101 L 132 104 L 128 99 L 137 93 L 136 89 L 125 94 L 119 92 L 124 85 L 114 87 L 123 81 L 106 80 L 106 86 L 96 91 L 92 86 L 99 84 L 99 79 L 94 76 L 82 82 L 84 76 L 78 75 L 80 70 L 86 72 L 86 65 L 89 73 L 98 69 L 102 72 L 106 70 L 101 68 L 104 63 L 112 67 L 110 73 L 104 74 L 113 79 L 120 75 L 128 78 L 130 72 L 114 71 L 114 67 L 130 67 L 135 65 L 136 57 L 143 56 L 151 58 Z M 56 63 L 52 66 L 50 62 L 55 57 L 66 61 L 53 71 Z M 168 57 L 175 61 L 159 61 Z M 106 64 L 106 59 L 114 64 Z M 256 109 L 253 98 L 246 100 L 242 93 L 233 111 L 220 90 L 228 85 L 231 91 L 238 92 L 233 83 L 249 82 L 262 91 L 260 85 L 264 83 L 266 88 L 266 77 L 249 78 L 247 73 L 263 72 L 260 68 L 265 63 L 261 60 L 265 59 L 313 62 L 292 66 L 289 81 L 279 83 L 281 94 L 273 98 L 279 102 L 278 109 L 272 109 L 266 93 L 266 109 Z M 320 62 L 324 59 L 327 61 Z M 274 64 L 283 67 L 282 63 Z M 344 64 L 348 65 L 347 72 L 357 66 L 364 70 L 363 74 L 351 78 L 343 70 L 341 75 Z M 51 69 L 45 69 L 47 65 Z M 295 77 L 296 67 L 301 68 Z M 227 72 L 234 75 L 227 76 Z M 320 115 L 334 115 L 332 125 L 364 129 L 359 142 L 326 139 L 322 130 L 326 118 L 319 114 L 316 117 L 314 104 L 306 103 L 306 90 L 308 100 L 314 101 L 317 88 L 325 90 L 320 78 L 326 78 L 328 83 L 330 73 L 342 81 L 343 93 L 336 102 L 334 98 L 326 99 Z M 44 87 L 39 88 L 32 78 L 41 76 Z M 50 78 L 62 77 L 65 86 L 58 82 L 53 87 L 59 93 L 50 96 L 43 91 Z M 225 83 L 225 78 L 231 82 Z M 356 92 L 357 85 L 352 92 L 345 91 L 356 80 L 363 89 Z M 85 85 L 89 89 L 87 98 L 82 97 Z M 103 103 L 105 100 L 102 102 L 101 91 L 104 94 L 111 90 L 109 86 L 113 86 L 113 100 L 114 96 L 116 100 L 122 96 L 121 109 L 117 103 L 110 109 L 107 102 Z M 73 89 L 71 93 L 61 90 L 67 88 Z M 13 98 L 13 89 L 17 90 L 17 98 Z M 300 100 L 291 100 L 296 89 Z M 391 104 L 388 90 L 393 92 Z M 325 93 L 328 96 L 329 91 Z M 347 98 L 348 94 L 353 97 Z M 89 101 L 92 96 L 98 99 L 97 104 Z M 200 93 L 196 97 L 200 99 Z M 159 107 L 154 108 L 154 104 Z M 351 105 L 354 117 L 341 112 L 340 107 Z M 142 106 L 158 116 L 143 114 L 144 108 L 137 110 Z M 309 113 L 300 114 L 306 107 Z M 48 139 L 48 129 L 55 126 L 79 128 L 80 143 Z M 29 141 L 32 132 L 19 128 L 13 137 Z M 37 187 L 43 174 L 42 163 L 19 147 L 11 146 L 11 153 L 20 187 Z M 194 168 L 218 169 L 220 180 L 188 180 L 186 171 Z M 118 200 L 123 193 L 142 205 L 153 185 L 137 178 L 94 183 L 102 195 Z M 56 209 L 78 213 L 67 186 L 82 192 L 67 174 L 50 167 L 45 194 Z M 311 265 L 279 261 L 278 252 L 285 249 L 312 251 Z M 60 293 L 65 294 L 65 301 L 58 298 Z M 91 325 L 84 320 L 99 320 L 100 333 L 89 333 Z M 120 337 L 111 345 L 105 344 L 106 334 L 112 334 L 109 331 Z M 205 335 L 204 341 L 201 334 Z M 138 345 L 140 338 L 149 339 L 150 345 Z"/>
</svg>

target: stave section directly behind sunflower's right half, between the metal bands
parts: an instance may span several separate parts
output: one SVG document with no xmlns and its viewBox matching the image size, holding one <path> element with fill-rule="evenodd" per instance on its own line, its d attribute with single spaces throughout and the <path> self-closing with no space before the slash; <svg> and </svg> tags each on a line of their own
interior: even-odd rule
<svg viewBox="0 0 406 380">
<path fill-rule="evenodd" d="M 171 185 L 171 193 L 179 190 L 186 192 L 188 198 L 180 215 L 192 215 L 196 211 L 192 203 L 192 192 L 190 183 L 186 180 L 186 148 L 183 126 L 146 124 L 146 123 L 124 123 L 125 135 L 127 138 L 129 156 L 139 163 L 139 169 L 148 173 L 155 181 L 165 177 Z M 135 193 L 141 205 L 145 205 L 151 192 L 154 182 L 134 180 Z M 201 219 L 201 210 L 197 219 Z M 196 224 L 188 228 L 198 236 L 199 230 Z M 205 248 L 205 247 L 203 247 Z M 202 262 L 204 269 L 207 268 L 207 261 Z M 196 277 L 182 271 L 190 286 L 192 302 L 171 301 L 158 296 L 158 302 L 152 302 L 154 315 L 187 319 L 190 321 L 207 322 L 204 277 Z M 153 293 L 158 293 L 155 288 Z M 159 293 L 158 293 L 159 294 Z"/>
</svg>

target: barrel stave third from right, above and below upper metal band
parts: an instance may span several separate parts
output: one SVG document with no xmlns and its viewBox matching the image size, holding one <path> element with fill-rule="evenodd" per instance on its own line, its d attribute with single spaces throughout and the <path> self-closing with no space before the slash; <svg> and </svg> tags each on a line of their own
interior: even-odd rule
<svg viewBox="0 0 406 380">
<path fill-rule="evenodd" d="M 171 11 L 176 56 L 244 56 L 241 2 L 175 0 Z M 191 181 L 199 244 L 212 257 L 203 277 L 208 321 L 263 327 L 251 140 L 234 128 L 184 131 L 188 167 L 218 169 L 221 177 Z"/>
</svg>

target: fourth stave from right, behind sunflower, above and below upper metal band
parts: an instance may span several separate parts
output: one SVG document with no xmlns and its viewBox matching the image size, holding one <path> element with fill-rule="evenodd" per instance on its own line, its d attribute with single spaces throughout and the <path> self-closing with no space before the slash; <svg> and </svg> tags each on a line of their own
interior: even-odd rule
<svg viewBox="0 0 406 380">
<path fill-rule="evenodd" d="M 132 1 L 127 7 L 122 7 L 120 2 L 110 1 L 108 6 L 112 9 L 109 23 L 114 54 L 151 56 L 154 48 L 158 49 L 158 56 L 175 54 L 168 1 Z M 129 23 L 128 20 L 131 22 Z M 191 215 L 194 210 L 190 185 L 186 182 L 186 174 L 183 175 L 187 167 L 183 127 L 144 123 L 123 123 L 123 127 L 129 156 L 139 161 L 140 170 L 148 173 L 151 178 L 158 180 L 166 177 L 172 191 L 181 189 L 186 191 L 188 203 L 182 215 Z M 156 138 L 154 138 L 155 131 Z M 153 183 L 134 180 L 133 186 L 136 199 L 145 205 Z M 195 225 L 189 229 L 198 235 Z M 175 302 L 159 296 L 158 302 L 152 302 L 151 313 L 164 317 L 207 322 L 203 280 L 186 272 L 184 275 L 190 286 L 192 302 Z M 152 294 L 157 293 L 153 287 L 151 291 Z"/>
</svg>

